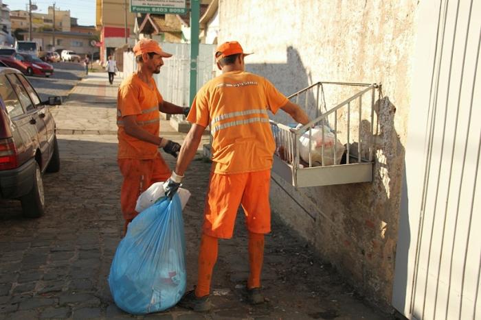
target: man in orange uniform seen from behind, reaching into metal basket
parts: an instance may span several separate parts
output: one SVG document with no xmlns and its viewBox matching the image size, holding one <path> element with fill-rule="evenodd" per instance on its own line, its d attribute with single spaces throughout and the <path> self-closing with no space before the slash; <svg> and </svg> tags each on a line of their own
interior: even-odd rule
<svg viewBox="0 0 481 320">
<path fill-rule="evenodd" d="M 302 109 L 291 103 L 267 79 L 245 72 L 244 53 L 236 41 L 216 49 L 222 75 L 197 93 L 187 120 L 192 123 L 184 140 L 175 171 L 164 183 L 166 195 L 177 192 L 184 173 L 197 151 L 205 127 L 212 134 L 212 171 L 205 199 L 203 234 L 199 249 L 197 286 L 179 301 L 196 311 L 210 310 L 212 269 L 217 259 L 218 238 L 232 238 L 239 204 L 249 230 L 247 299 L 260 304 L 260 271 L 264 257 L 264 235 L 271 231 L 269 186 L 276 144 L 268 111 L 282 109 L 295 121 L 309 123 Z"/>
</svg>

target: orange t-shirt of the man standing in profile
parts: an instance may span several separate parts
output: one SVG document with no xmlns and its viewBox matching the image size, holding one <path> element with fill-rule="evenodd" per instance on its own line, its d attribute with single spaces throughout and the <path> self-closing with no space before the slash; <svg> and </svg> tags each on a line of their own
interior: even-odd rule
<svg viewBox="0 0 481 320">
<path fill-rule="evenodd" d="M 137 74 L 124 79 L 117 94 L 117 125 L 119 139 L 119 159 L 148 160 L 155 158 L 158 146 L 126 134 L 123 116 L 136 115 L 137 125 L 154 136 L 159 135 L 159 103 L 163 101 L 153 78 L 150 86 Z"/>
</svg>

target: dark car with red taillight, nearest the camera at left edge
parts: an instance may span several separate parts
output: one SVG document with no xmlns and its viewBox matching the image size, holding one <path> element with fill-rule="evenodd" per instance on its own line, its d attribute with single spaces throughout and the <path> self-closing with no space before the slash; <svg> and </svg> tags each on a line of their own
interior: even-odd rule
<svg viewBox="0 0 481 320">
<path fill-rule="evenodd" d="M 0 198 L 19 199 L 25 217 L 45 209 L 42 176 L 60 170 L 54 117 L 19 71 L 0 67 Z"/>
</svg>

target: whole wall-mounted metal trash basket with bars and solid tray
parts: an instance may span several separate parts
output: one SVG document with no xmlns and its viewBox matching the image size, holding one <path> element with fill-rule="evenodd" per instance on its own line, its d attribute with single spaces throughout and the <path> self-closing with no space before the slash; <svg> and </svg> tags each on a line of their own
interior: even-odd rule
<svg viewBox="0 0 481 320">
<path fill-rule="evenodd" d="M 327 110 L 327 86 L 335 87 L 334 90 L 330 90 L 331 93 L 337 93 L 335 96 L 344 92 L 348 93 L 348 98 Z M 297 128 L 270 121 L 271 130 L 276 140 L 276 154 L 274 155 L 272 171 L 295 187 L 372 182 L 376 92 L 378 93 L 378 99 L 381 99 L 381 84 L 317 82 L 289 96 L 289 99 L 295 99 L 295 103 L 304 104 L 306 109 L 310 106 L 310 103 L 314 105 L 316 118 Z M 309 102 L 309 97 L 314 101 Z M 368 103 L 365 104 L 368 104 L 369 108 L 363 106 L 363 99 L 366 101 L 366 97 Z M 324 110 L 322 110 L 323 108 Z M 338 125 L 338 122 L 342 122 L 345 131 L 340 130 L 341 125 Z M 338 138 L 343 138 L 343 145 L 346 149 L 344 164 L 324 165 L 326 155 L 324 145 L 322 145 L 322 164 L 319 167 L 313 166 L 311 147 L 312 127 L 315 125 L 331 127 L 335 141 Z M 353 129 L 356 126 L 357 130 L 356 128 Z M 340 132 L 342 134 L 339 134 Z M 300 137 L 304 134 L 309 135 L 309 162 L 305 161 L 302 164 Z M 322 140 L 324 141 L 324 130 L 322 131 Z M 334 147 L 335 163 L 337 160 L 336 151 L 336 147 Z"/>
</svg>

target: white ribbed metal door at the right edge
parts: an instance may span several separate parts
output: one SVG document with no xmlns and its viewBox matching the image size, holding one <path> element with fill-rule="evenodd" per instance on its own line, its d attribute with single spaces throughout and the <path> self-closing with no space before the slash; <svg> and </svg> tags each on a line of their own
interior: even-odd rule
<svg viewBox="0 0 481 320">
<path fill-rule="evenodd" d="M 481 319 L 481 0 L 419 10 L 392 304 Z"/>
</svg>

